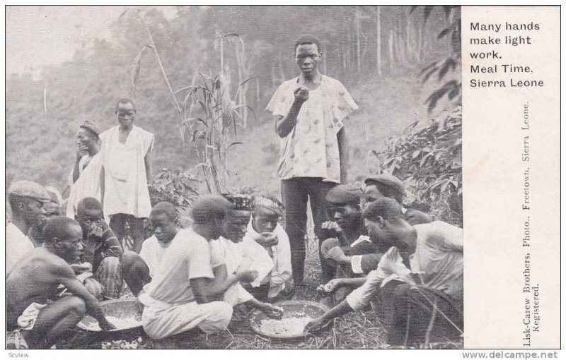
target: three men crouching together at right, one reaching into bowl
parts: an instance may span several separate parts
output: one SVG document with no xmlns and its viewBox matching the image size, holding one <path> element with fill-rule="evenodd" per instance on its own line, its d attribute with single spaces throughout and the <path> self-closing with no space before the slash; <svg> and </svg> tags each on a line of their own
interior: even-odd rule
<svg viewBox="0 0 566 360">
<path fill-rule="evenodd" d="M 326 198 L 337 224 L 320 246 L 335 279 L 318 290 L 333 306 L 308 323 L 314 331 L 333 318 L 371 305 L 391 346 L 421 347 L 463 335 L 463 230 L 404 208 L 403 183 L 369 176 L 364 191 L 340 185 Z"/>
</svg>

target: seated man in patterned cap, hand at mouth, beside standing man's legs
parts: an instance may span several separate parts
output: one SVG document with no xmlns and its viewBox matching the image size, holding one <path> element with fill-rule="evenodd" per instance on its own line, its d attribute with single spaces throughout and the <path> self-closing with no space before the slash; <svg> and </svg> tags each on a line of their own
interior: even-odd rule
<svg viewBox="0 0 566 360">
<path fill-rule="evenodd" d="M 291 246 L 289 236 L 279 224 L 284 206 L 271 196 L 254 196 L 252 199 L 252 218 L 243 242 L 260 244 L 262 253 L 273 260 L 273 270 L 262 280 L 259 293 L 254 296 L 262 301 L 273 299 L 291 285 Z"/>
</svg>

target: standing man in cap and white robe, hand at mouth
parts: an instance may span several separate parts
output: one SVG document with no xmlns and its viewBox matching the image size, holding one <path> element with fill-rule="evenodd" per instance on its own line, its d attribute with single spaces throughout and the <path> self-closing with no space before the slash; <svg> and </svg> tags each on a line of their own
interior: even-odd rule
<svg viewBox="0 0 566 360">
<path fill-rule="evenodd" d="M 66 215 L 74 219 L 77 205 L 83 198 L 103 201 L 104 169 L 100 156 L 98 134 L 100 131 L 91 121 L 85 121 L 76 133 L 76 161 L 69 175 L 69 200 Z"/>
</svg>

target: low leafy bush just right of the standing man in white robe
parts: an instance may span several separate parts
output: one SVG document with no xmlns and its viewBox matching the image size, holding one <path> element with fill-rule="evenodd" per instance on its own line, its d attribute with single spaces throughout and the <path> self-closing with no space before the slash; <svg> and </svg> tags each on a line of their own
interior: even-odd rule
<svg viewBox="0 0 566 360">
<path fill-rule="evenodd" d="M 149 185 L 151 205 L 167 201 L 175 205 L 176 209 L 187 210 L 192 200 L 199 195 L 198 183 L 198 179 L 189 172 L 163 169 L 154 176 L 154 181 Z"/>
</svg>

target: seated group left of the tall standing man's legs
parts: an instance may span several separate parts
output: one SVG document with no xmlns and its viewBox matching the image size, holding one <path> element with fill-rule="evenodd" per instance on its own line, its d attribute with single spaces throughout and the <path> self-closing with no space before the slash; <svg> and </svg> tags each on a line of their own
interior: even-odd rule
<svg viewBox="0 0 566 360">
<path fill-rule="evenodd" d="M 158 203 L 149 217 L 153 235 L 139 254 L 122 251 L 96 198 L 81 199 L 74 220 L 59 215 L 60 199 L 32 181 L 14 183 L 8 201 L 10 347 L 51 347 L 86 313 L 112 329 L 98 301 L 120 297 L 124 284 L 143 305 L 144 330 L 156 340 L 193 328 L 226 330 L 241 304 L 270 316 L 282 311 L 270 302 L 289 289 L 291 260 L 275 198 L 202 197 L 187 229 L 171 203 Z"/>
</svg>

